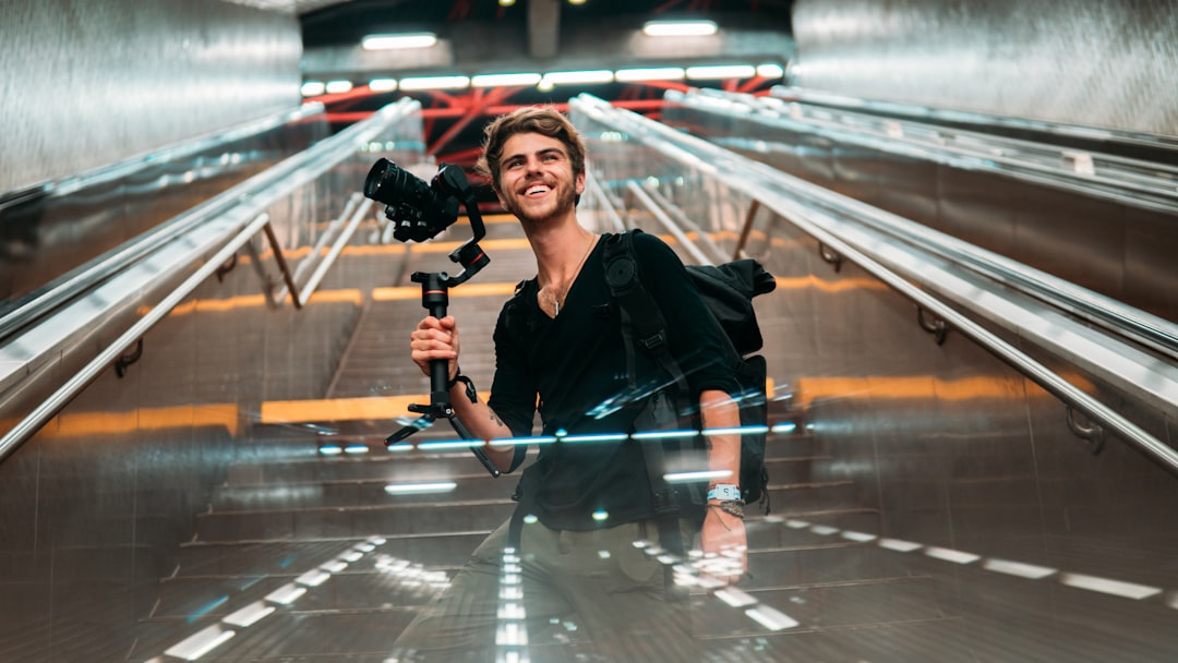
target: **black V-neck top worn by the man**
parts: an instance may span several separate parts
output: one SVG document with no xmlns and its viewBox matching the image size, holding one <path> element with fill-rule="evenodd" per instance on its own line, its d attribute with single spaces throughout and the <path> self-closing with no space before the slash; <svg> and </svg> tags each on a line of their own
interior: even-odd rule
<svg viewBox="0 0 1178 663">
<path fill-rule="evenodd" d="M 536 473 L 525 482 L 535 486 L 531 512 L 554 529 L 585 530 L 654 516 L 638 443 L 609 439 L 609 433 L 630 432 L 635 409 L 617 407 L 629 380 L 621 318 L 605 283 L 603 245 L 604 238 L 556 318 L 541 311 L 537 284 L 530 279 L 504 304 L 495 327 L 489 405 L 514 435 L 532 435 L 538 405 L 542 436 L 560 431 L 575 439 L 593 433 L 607 438 L 542 443 L 536 463 L 525 470 Z M 695 402 L 704 390 L 733 393 L 728 340 L 682 261 L 655 236 L 637 233 L 634 248 L 642 284 L 667 319 L 671 354 L 687 374 Z M 640 384 L 668 379 L 641 352 L 635 365 Z"/>
</svg>

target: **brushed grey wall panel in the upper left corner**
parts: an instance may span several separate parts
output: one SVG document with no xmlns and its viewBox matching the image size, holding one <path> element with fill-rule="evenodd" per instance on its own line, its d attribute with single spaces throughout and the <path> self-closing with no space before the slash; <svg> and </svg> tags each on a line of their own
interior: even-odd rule
<svg viewBox="0 0 1178 663">
<path fill-rule="evenodd" d="M 0 192 L 298 106 L 296 16 L 218 0 L 0 5 Z"/>
</svg>

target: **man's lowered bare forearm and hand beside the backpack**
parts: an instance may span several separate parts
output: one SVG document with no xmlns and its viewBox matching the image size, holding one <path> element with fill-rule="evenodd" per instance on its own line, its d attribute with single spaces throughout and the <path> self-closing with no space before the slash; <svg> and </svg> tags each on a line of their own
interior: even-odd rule
<svg viewBox="0 0 1178 663">
<path fill-rule="evenodd" d="M 700 395 L 700 413 L 706 431 L 740 426 L 740 409 L 723 391 L 703 391 Z M 713 479 L 710 484 L 739 484 L 740 433 L 709 435 L 706 439 L 708 469 L 727 472 L 726 478 Z M 700 548 L 704 556 L 703 572 L 726 582 L 739 581 L 748 569 L 748 537 L 743 517 L 722 509 L 721 500 L 709 499 L 700 531 Z"/>
</svg>

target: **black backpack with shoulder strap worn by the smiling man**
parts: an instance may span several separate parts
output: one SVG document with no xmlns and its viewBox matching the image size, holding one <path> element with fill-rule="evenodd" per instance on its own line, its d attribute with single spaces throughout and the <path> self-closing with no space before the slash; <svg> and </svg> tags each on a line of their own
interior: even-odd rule
<svg viewBox="0 0 1178 663">
<path fill-rule="evenodd" d="M 666 319 L 659 304 L 640 279 L 641 267 L 634 252 L 634 233 L 637 232 L 642 231 L 634 230 L 608 237 L 603 253 L 605 281 L 621 313 L 627 354 L 629 357 L 634 351 L 649 353 L 674 379 L 675 391 L 686 395 L 687 379 L 667 345 Z M 733 396 L 740 405 L 741 427 L 746 430 L 741 435 L 739 484 L 744 502 L 763 503 L 765 513 L 768 513 L 769 473 L 765 466 L 765 440 L 768 433 L 767 369 L 763 357 L 752 354 L 760 350 L 763 343 L 761 329 L 756 323 L 756 312 L 753 309 L 753 298 L 772 292 L 777 285 L 776 279 L 753 259 L 734 260 L 715 266 L 687 265 L 687 273 L 704 305 L 732 340 L 735 353 L 732 359 L 741 386 L 741 392 Z M 628 369 L 633 376 L 633 358 L 630 363 Z M 697 403 L 677 403 L 674 413 L 694 411 L 697 405 Z M 677 497 L 662 480 L 661 466 L 664 463 L 661 458 L 661 446 L 643 445 L 643 451 L 650 470 L 656 508 L 663 506 L 675 511 L 671 503 Z M 694 495 L 697 490 L 693 489 L 690 502 L 702 504 L 702 497 Z"/>
</svg>

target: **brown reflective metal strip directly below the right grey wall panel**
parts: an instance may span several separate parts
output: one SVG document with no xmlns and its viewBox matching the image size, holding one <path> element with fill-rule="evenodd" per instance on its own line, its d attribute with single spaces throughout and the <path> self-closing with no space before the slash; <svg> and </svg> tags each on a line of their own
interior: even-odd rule
<svg viewBox="0 0 1178 663">
<path fill-rule="evenodd" d="M 1044 161 L 1045 154 L 1070 153 L 1058 146 L 977 132 L 951 132 L 941 140 L 931 125 L 886 118 L 874 118 L 863 133 L 860 125 L 868 120 L 859 113 L 721 94 L 669 97 L 681 101 L 663 113 L 674 126 L 1130 307 L 1178 320 L 1172 294 L 1178 289 L 1158 287 L 1176 276 L 1158 251 L 1178 251 L 1169 163 L 1153 168 L 1151 193 L 1143 193 L 1145 181 L 1137 173 L 1151 166 L 1144 161 L 1108 158 L 1100 183 L 1065 159 Z M 934 134 L 928 141 L 918 137 L 926 131 Z M 971 155 L 953 147 L 966 139 Z M 987 151 L 1002 157 L 986 158 Z M 1090 158 L 1096 163 L 1103 157 Z M 1141 236 L 1150 241 L 1139 241 Z"/>
</svg>

